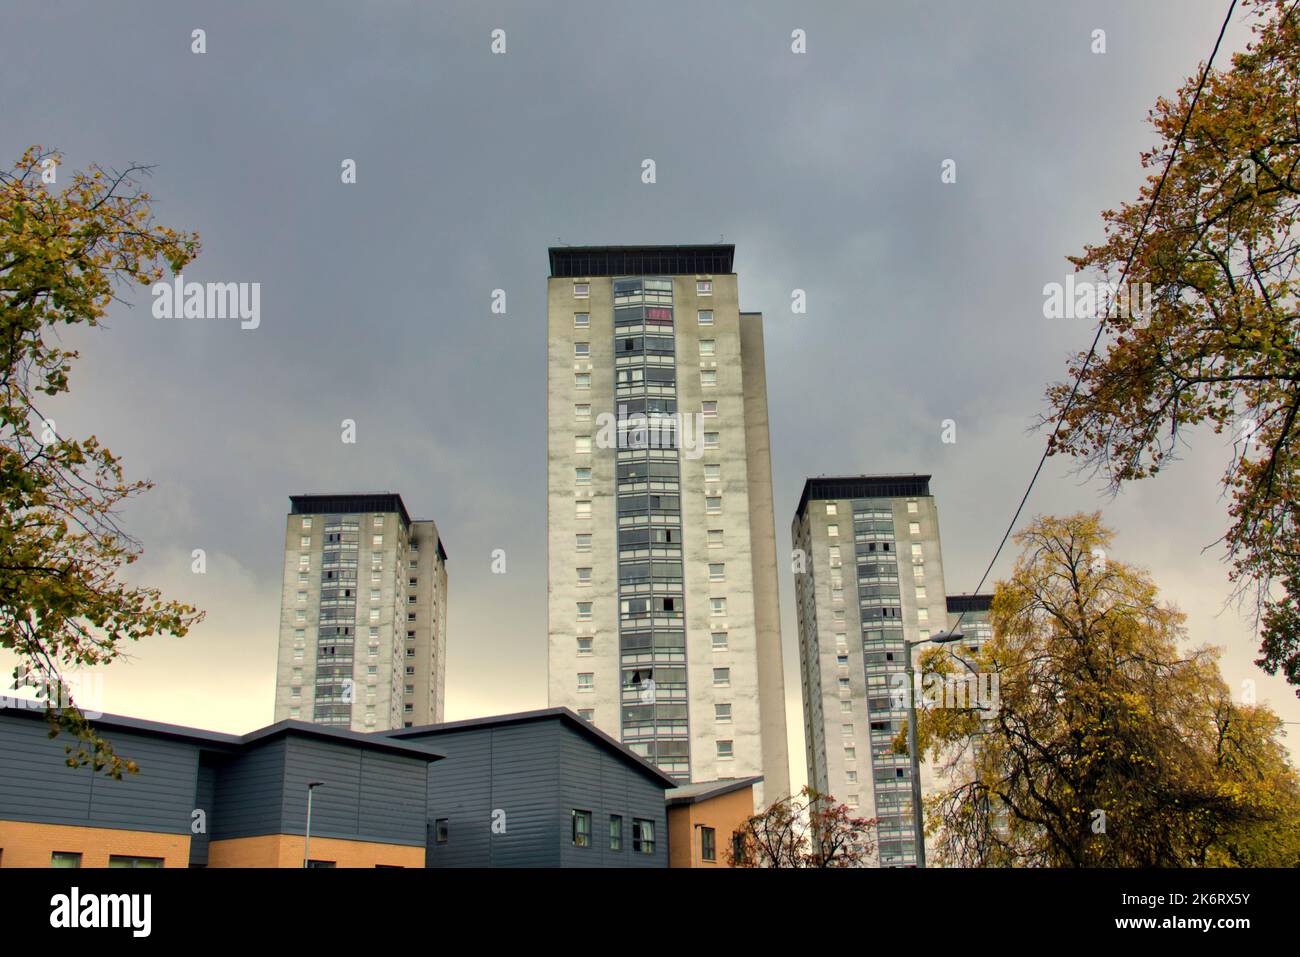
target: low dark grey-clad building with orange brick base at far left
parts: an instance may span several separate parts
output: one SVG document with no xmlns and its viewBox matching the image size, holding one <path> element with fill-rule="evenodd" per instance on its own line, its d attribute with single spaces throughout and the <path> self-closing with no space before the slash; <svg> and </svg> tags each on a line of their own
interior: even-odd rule
<svg viewBox="0 0 1300 957">
<path fill-rule="evenodd" d="M 302 867 L 307 791 L 320 867 L 424 866 L 437 749 L 281 722 L 224 735 L 118 715 L 94 720 L 139 767 L 66 765 L 43 707 L 0 707 L 0 867 Z"/>
</svg>

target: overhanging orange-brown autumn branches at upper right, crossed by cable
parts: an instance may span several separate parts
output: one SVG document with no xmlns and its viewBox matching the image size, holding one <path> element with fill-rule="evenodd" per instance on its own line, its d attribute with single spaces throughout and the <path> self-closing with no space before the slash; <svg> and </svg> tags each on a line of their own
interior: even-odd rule
<svg viewBox="0 0 1300 957">
<path fill-rule="evenodd" d="M 1156 103 L 1147 185 L 1104 213 L 1105 242 L 1070 257 L 1109 282 L 1150 283 L 1152 307 L 1105 319 L 1096 355 L 1049 389 L 1045 423 L 1061 423 L 1052 454 L 1115 490 L 1165 468 L 1192 426 L 1231 439 L 1230 576 L 1254 601 L 1256 663 L 1300 684 L 1300 12 L 1243 7 L 1252 43 L 1199 96 L 1200 72 Z"/>
</svg>

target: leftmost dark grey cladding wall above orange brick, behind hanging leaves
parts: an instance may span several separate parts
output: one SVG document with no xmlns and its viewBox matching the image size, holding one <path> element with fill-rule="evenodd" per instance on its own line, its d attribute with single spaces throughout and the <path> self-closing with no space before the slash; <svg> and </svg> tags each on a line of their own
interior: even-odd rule
<svg viewBox="0 0 1300 957">
<path fill-rule="evenodd" d="M 113 749 L 139 766 L 117 781 L 91 768 L 70 768 L 66 733 L 30 718 L 0 720 L 0 817 L 52 824 L 188 833 L 198 749 L 114 731 Z"/>
</svg>

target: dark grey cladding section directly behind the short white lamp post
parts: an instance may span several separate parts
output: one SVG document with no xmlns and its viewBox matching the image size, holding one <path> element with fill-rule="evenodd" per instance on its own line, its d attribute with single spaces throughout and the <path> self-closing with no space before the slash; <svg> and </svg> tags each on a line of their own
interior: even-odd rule
<svg viewBox="0 0 1300 957">
<path fill-rule="evenodd" d="M 307 830 L 307 785 L 321 781 L 312 798 L 312 833 L 368 840 L 360 836 L 361 749 L 303 737 L 285 744 L 283 833 Z"/>
</svg>

